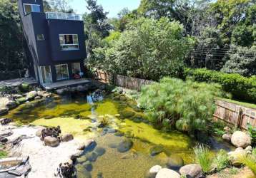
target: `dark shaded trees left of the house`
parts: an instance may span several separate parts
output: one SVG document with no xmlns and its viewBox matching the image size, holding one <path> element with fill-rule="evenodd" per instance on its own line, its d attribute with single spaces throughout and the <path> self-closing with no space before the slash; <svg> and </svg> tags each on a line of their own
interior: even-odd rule
<svg viewBox="0 0 256 178">
<path fill-rule="evenodd" d="M 0 70 L 23 69 L 23 33 L 16 1 L 0 1 Z"/>
</svg>

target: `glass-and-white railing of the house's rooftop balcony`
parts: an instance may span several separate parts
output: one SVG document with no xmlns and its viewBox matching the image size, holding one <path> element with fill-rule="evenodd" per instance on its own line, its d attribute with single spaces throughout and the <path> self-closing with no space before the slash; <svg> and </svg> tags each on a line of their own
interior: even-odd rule
<svg viewBox="0 0 256 178">
<path fill-rule="evenodd" d="M 82 21 L 82 15 L 79 14 L 67 14 L 62 12 L 46 12 L 46 19 L 58 19 L 68 21 Z"/>
</svg>

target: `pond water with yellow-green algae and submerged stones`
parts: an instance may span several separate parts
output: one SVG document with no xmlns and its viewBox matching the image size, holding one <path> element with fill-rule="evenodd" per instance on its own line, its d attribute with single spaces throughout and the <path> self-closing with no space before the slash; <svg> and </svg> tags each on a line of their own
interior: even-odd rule
<svg viewBox="0 0 256 178">
<path fill-rule="evenodd" d="M 134 100 L 120 95 L 101 100 L 92 95 L 47 98 L 21 105 L 5 117 L 19 125 L 59 125 L 62 134 L 96 140 L 97 145 L 79 157 L 77 177 L 145 177 L 156 164 L 166 167 L 170 157 L 183 159 L 184 164 L 194 161 L 187 135 L 155 129 Z M 103 118 L 108 125 L 99 127 Z"/>
</svg>

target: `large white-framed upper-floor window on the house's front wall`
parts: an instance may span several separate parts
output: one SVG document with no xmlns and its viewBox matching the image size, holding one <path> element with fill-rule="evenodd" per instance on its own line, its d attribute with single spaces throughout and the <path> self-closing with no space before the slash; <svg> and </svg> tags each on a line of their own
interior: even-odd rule
<svg viewBox="0 0 256 178">
<path fill-rule="evenodd" d="M 78 50 L 78 35 L 59 35 L 59 43 L 62 51 Z"/>
</svg>

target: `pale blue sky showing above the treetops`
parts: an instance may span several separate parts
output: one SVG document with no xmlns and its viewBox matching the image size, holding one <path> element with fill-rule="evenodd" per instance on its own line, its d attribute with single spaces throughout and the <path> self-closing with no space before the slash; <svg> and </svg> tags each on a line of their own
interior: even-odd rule
<svg viewBox="0 0 256 178">
<path fill-rule="evenodd" d="M 104 11 L 108 11 L 108 17 L 117 16 L 119 11 L 127 7 L 129 10 L 137 9 L 140 0 L 98 0 L 98 4 L 101 4 Z M 77 12 L 77 14 L 84 14 L 86 9 L 85 0 L 71 0 L 70 5 Z"/>
</svg>

